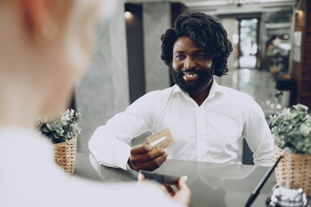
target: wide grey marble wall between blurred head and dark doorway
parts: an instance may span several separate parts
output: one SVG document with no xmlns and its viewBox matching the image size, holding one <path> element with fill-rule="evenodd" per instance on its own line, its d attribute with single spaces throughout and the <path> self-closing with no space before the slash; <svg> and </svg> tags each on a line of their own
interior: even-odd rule
<svg viewBox="0 0 311 207">
<path fill-rule="evenodd" d="M 76 88 L 77 111 L 81 113 L 78 152 L 88 152 L 88 140 L 97 127 L 106 124 L 129 105 L 124 4 L 120 2 L 109 20 L 98 26 L 92 62 Z"/>
</svg>

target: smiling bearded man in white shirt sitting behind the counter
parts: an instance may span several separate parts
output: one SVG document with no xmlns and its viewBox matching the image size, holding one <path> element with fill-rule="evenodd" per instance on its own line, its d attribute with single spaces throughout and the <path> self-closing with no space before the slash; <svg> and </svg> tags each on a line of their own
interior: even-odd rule
<svg viewBox="0 0 311 207">
<path fill-rule="evenodd" d="M 142 96 L 95 131 L 89 149 L 99 163 L 134 170 L 154 170 L 166 158 L 237 163 L 245 138 L 254 163 L 272 165 L 273 138 L 259 105 L 213 79 L 228 72 L 232 52 L 219 21 L 204 13 L 183 13 L 161 41 L 161 59 L 176 84 Z M 167 150 L 126 144 L 165 128 L 175 140 Z"/>
</svg>

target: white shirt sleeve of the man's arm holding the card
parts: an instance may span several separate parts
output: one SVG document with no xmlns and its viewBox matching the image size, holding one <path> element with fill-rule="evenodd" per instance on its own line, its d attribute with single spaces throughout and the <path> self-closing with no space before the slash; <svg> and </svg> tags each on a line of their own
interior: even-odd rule
<svg viewBox="0 0 311 207">
<path fill-rule="evenodd" d="M 96 129 L 88 148 L 96 160 L 108 167 L 127 170 L 131 147 L 128 143 L 139 135 L 151 131 L 156 115 L 156 91 L 147 93 L 126 111 L 115 115 L 106 125 Z"/>
</svg>

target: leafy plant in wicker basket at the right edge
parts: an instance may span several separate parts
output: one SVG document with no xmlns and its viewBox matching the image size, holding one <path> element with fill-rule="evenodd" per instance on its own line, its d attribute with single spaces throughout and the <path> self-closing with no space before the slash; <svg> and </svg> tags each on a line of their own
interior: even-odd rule
<svg viewBox="0 0 311 207">
<path fill-rule="evenodd" d="M 295 188 L 302 188 L 311 196 L 311 116 L 302 104 L 294 109 L 284 109 L 277 116 L 270 116 L 271 133 L 274 138 L 274 159 L 285 147 L 286 153 L 275 168 L 276 180 L 281 185 L 287 181 Z"/>
</svg>

